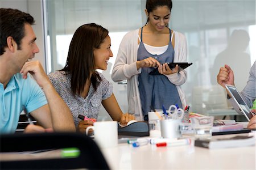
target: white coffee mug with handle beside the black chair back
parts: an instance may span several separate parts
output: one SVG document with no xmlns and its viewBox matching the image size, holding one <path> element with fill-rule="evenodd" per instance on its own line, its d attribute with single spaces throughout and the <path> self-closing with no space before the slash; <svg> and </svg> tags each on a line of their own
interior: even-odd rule
<svg viewBox="0 0 256 170">
<path fill-rule="evenodd" d="M 94 122 L 86 128 L 86 135 L 90 129 L 94 130 L 94 139 L 100 148 L 115 147 L 118 145 L 117 121 Z"/>
</svg>

